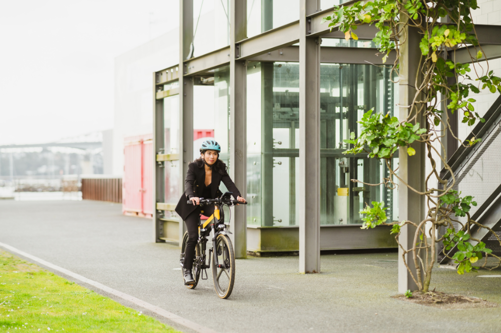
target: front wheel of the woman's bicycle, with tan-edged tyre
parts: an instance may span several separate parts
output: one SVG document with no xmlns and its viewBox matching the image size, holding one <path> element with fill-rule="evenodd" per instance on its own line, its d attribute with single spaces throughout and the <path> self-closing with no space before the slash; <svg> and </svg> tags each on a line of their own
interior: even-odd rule
<svg viewBox="0 0 501 333">
<path fill-rule="evenodd" d="M 216 267 L 214 257 L 221 267 Z M 220 234 L 216 239 L 216 248 L 212 256 L 212 280 L 214 289 L 220 298 L 228 298 L 235 282 L 235 253 L 229 237 Z"/>
</svg>

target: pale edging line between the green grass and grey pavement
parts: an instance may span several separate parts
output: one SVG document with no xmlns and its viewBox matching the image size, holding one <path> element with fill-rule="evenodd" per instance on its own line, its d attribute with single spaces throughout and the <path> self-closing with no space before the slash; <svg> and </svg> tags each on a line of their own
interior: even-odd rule
<svg viewBox="0 0 501 333">
<path fill-rule="evenodd" d="M 183 325 L 185 327 L 191 328 L 191 329 L 193 329 L 193 330 L 195 330 L 197 332 L 200 332 L 200 333 L 216 333 L 216 331 L 214 331 L 214 330 L 212 330 L 210 328 L 203 327 L 203 326 L 201 326 L 201 325 L 199 325 L 199 324 L 197 324 L 197 323 L 195 323 L 193 321 L 186 320 L 186 319 L 184 319 L 184 318 L 182 318 L 182 317 L 180 317 L 180 316 L 178 316 L 178 315 L 176 315 L 176 314 L 174 314 L 172 312 L 164 310 L 161 307 L 155 306 L 153 304 L 145 302 L 144 300 L 141 300 L 141 299 L 136 298 L 134 296 L 131 296 L 131 295 L 128 295 L 128 294 L 123 293 L 121 291 L 118 291 L 118 290 L 115 290 L 113 288 L 110 288 L 110 287 L 108 287 L 108 286 L 106 286 L 104 284 L 101 284 L 101 283 L 96 282 L 94 280 L 91 280 L 91 279 L 89 279 L 87 277 L 84 277 L 82 275 L 74 273 L 74 272 L 72 272 L 72 271 L 70 271 L 68 269 L 63 268 L 63 267 L 59 267 L 59 266 L 57 266 L 57 265 L 55 265 L 53 263 L 45 261 L 44 259 L 41 259 L 39 257 L 36 257 L 36 256 L 31 255 L 29 253 L 26 253 L 26 252 L 24 252 L 24 251 L 22 251 L 20 249 L 17 249 L 16 247 L 13 247 L 11 245 L 7 245 L 7 244 L 2 243 L 2 242 L 0 242 L 0 246 L 5 247 L 5 248 L 7 248 L 7 249 L 9 249 L 9 250 L 11 250 L 13 252 L 18 253 L 18 254 L 21 254 L 21 255 L 23 255 L 23 256 L 25 256 L 27 258 L 30 258 L 33 261 L 40 262 L 41 264 L 43 264 L 43 265 L 45 265 L 47 267 L 50 267 L 50 268 L 52 268 L 54 270 L 57 270 L 57 271 L 60 271 L 63 274 L 66 274 L 68 276 L 76 278 L 77 280 L 80 280 L 82 282 L 85 282 L 85 283 L 88 283 L 90 285 L 93 285 L 96 288 L 99 288 L 99 289 L 101 289 L 103 291 L 109 292 L 111 294 L 114 294 L 115 296 L 118 296 L 120 298 L 126 299 L 128 301 L 131 301 L 131 302 L 133 302 L 133 303 L 135 303 L 135 304 L 137 304 L 139 306 L 142 306 L 142 307 L 144 307 L 144 308 L 146 308 L 146 309 L 148 309 L 148 310 L 150 310 L 152 312 L 155 312 L 156 314 L 159 314 L 159 315 L 161 315 L 161 316 L 163 316 L 163 317 L 165 317 L 167 319 L 170 319 L 170 320 L 172 320 L 174 322 L 177 322 L 178 324 L 181 324 L 181 325 Z"/>
</svg>

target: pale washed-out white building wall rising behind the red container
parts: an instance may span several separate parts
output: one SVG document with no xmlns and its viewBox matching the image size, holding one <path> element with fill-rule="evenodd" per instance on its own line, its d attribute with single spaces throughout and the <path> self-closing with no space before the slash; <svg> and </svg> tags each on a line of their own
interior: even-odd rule
<svg viewBox="0 0 501 333">
<path fill-rule="evenodd" d="M 176 63 L 178 28 L 115 58 L 113 174 L 123 175 L 124 138 L 153 131 L 153 72 Z"/>
</svg>

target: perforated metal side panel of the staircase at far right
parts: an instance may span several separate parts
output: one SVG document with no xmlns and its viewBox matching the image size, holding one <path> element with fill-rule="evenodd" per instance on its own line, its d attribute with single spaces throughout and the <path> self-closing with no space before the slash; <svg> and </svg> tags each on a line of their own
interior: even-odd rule
<svg viewBox="0 0 501 333">
<path fill-rule="evenodd" d="M 477 202 L 476 206 L 471 207 L 471 216 L 490 204 L 487 199 L 501 185 L 501 135 L 499 134 L 501 134 L 501 115 L 497 115 L 482 135 L 481 142 L 476 144 L 455 169 L 456 182 L 452 188 L 460 191 L 460 196 L 473 196 L 473 200 Z M 450 177 L 448 181 L 450 183 L 452 178 Z M 462 223 L 466 222 L 466 217 L 454 216 L 454 218 Z M 461 228 L 459 223 L 453 224 L 456 230 Z M 501 228 L 495 231 L 501 235 Z M 489 237 L 486 244 L 494 252 L 501 252 L 501 246 L 494 235 Z"/>
</svg>

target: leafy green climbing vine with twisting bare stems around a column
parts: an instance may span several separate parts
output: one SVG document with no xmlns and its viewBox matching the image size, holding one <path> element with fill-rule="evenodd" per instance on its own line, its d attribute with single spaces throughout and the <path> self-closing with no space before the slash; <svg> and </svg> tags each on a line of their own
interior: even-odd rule
<svg viewBox="0 0 501 333">
<path fill-rule="evenodd" d="M 461 142 L 450 129 L 449 114 L 459 113 L 461 121 L 469 126 L 477 121 L 484 122 L 474 109 L 472 103 L 476 100 L 470 94 L 479 93 L 483 89 L 492 93 L 501 92 L 501 78 L 494 76 L 492 70 L 489 71 L 487 61 L 483 66 L 478 62 L 483 51 L 470 13 L 470 10 L 477 8 L 476 0 L 358 1 L 351 5 L 335 6 L 333 14 L 323 20 L 329 22 L 331 31 L 337 28 L 344 32 L 346 39 L 355 40 L 358 39 L 356 30 L 359 25 L 374 24 L 377 33 L 372 41 L 375 42 L 383 63 L 391 68 L 393 77 L 398 77 L 397 80 L 406 75 L 405 72 L 400 73 L 400 60 L 403 52 L 406 52 L 409 29 L 417 30 L 421 37 L 419 71 L 416 81 L 409 82 L 416 88 L 415 96 L 411 98 L 410 105 L 398 105 L 400 108 L 407 108 L 407 116 L 399 119 L 371 109 L 359 121 L 359 136 L 356 137 L 352 132 L 350 139 L 344 141 L 349 146 L 345 153 L 367 152 L 369 157 L 379 158 L 386 164 L 390 176 L 382 179 L 385 186 L 395 189 L 398 185 L 403 185 L 425 195 L 427 213 L 422 221 L 388 221 L 384 202 L 366 203 L 361 211 L 364 214 L 362 228 L 374 228 L 377 225 L 392 227 L 391 233 L 395 234 L 402 249 L 403 261 L 423 292 L 428 291 L 435 263 L 435 249 L 439 242 L 443 243 L 444 255 L 448 256 L 449 250 L 455 248 L 449 259 L 457 264 L 459 274 L 487 267 L 487 256 L 497 258 L 497 266 L 501 263 L 501 258 L 492 254 L 480 239 L 472 236 L 472 227 L 487 228 L 501 244 L 499 236 L 490 228 L 471 219 L 469 211 L 476 202 L 472 196 L 461 196 L 460 192 L 452 189 L 456 179 L 447 164 L 447 156 L 441 153 L 445 150 L 441 141 L 446 131 L 465 146 L 480 141 L 473 137 Z M 447 23 L 441 23 L 442 20 Z M 467 47 L 472 66 L 469 63 L 454 62 L 446 56 L 448 51 L 460 46 Z M 386 65 L 390 52 L 395 53 L 395 61 Z M 448 111 L 442 110 L 440 104 L 445 105 Z M 404 148 L 399 150 L 400 153 L 406 151 L 409 156 L 413 156 L 416 153 L 416 143 L 425 145 L 426 156 L 432 166 L 425 178 L 424 191 L 405 183 L 398 177 L 398 167 L 393 169 L 391 164 L 399 147 Z M 451 174 L 452 181 L 439 175 L 434 156 L 440 158 L 442 165 Z M 357 179 L 352 181 L 362 182 Z M 461 222 L 458 217 L 465 217 L 466 222 Z M 453 222 L 460 227 L 456 229 Z M 404 247 L 398 240 L 401 228 L 405 225 L 413 225 L 416 229 L 410 248 Z M 482 258 L 485 260 L 479 265 L 477 262 Z M 415 272 L 409 268 L 408 260 L 414 261 Z"/>
</svg>

